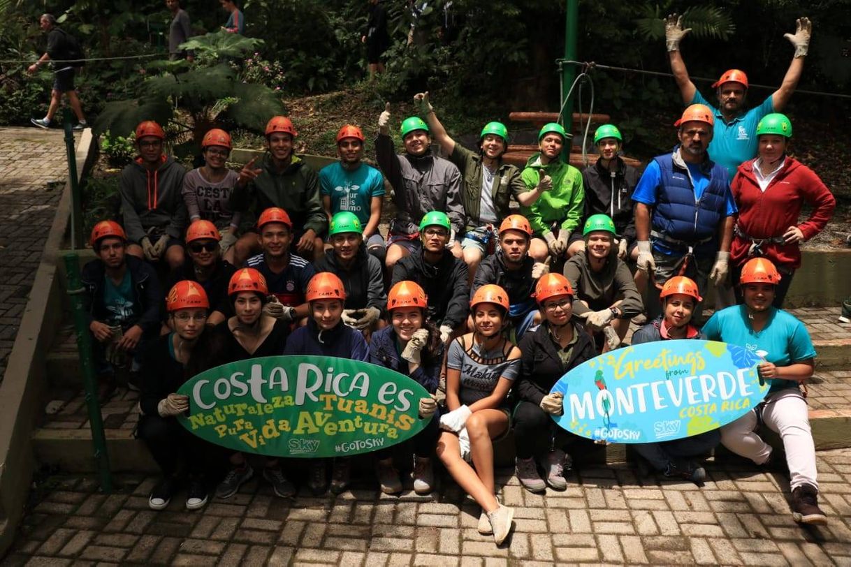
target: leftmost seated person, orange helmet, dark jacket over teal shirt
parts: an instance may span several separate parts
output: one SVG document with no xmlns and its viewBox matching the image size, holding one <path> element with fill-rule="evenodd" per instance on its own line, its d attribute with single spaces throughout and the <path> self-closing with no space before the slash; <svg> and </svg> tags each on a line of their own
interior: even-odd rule
<svg viewBox="0 0 851 567">
<path fill-rule="evenodd" d="M 141 353 L 157 337 L 163 291 L 157 272 L 127 253 L 127 235 L 115 221 L 94 225 L 90 243 L 96 259 L 83 266 L 83 312 L 94 337 L 98 399 L 116 388 L 116 370 L 129 365 L 129 386 L 138 387 Z"/>
</svg>

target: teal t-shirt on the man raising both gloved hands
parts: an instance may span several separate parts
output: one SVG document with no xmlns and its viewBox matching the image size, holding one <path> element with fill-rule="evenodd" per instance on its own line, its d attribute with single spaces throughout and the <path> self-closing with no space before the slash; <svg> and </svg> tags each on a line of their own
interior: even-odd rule
<svg viewBox="0 0 851 567">
<path fill-rule="evenodd" d="M 762 116 L 774 112 L 771 95 L 762 101 L 762 105 L 754 106 L 750 111 L 736 116 L 729 124 L 724 122 L 721 111 L 704 99 L 700 91 L 694 91 L 694 99 L 690 104 L 709 106 L 715 114 L 709 156 L 713 162 L 725 167 L 729 179 L 733 179 L 736 169 L 742 163 L 757 157 L 757 124 L 762 120 Z"/>
</svg>

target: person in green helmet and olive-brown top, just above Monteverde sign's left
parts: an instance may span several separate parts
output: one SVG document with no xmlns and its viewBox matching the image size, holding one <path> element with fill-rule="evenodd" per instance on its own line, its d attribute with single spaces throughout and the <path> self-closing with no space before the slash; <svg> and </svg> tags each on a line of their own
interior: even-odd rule
<svg viewBox="0 0 851 567">
<path fill-rule="evenodd" d="M 591 215 L 582 236 L 585 252 L 568 258 L 564 277 L 574 290 L 574 314 L 585 319 L 585 330 L 597 343 L 605 337 L 602 352 L 608 352 L 624 340 L 630 320 L 643 312 L 644 304 L 614 246 L 614 221 L 602 213 Z"/>
</svg>

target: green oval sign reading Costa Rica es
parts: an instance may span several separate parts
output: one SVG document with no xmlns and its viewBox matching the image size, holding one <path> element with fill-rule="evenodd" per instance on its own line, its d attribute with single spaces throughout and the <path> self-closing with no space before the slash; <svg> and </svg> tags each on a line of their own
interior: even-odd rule
<svg viewBox="0 0 851 567">
<path fill-rule="evenodd" d="M 410 439 L 426 388 L 384 366 L 332 356 L 266 356 L 184 383 L 192 434 L 266 456 L 349 456 Z"/>
</svg>

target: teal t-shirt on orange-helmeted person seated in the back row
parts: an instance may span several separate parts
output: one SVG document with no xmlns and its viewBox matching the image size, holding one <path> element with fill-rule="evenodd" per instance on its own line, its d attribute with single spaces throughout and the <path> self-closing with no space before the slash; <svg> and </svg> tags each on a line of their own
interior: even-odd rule
<svg viewBox="0 0 851 567">
<path fill-rule="evenodd" d="M 384 196 L 384 178 L 381 172 L 362 163 L 354 171 L 332 163 L 319 171 L 322 196 L 331 197 L 331 214 L 341 211 L 355 213 L 365 227 L 369 221 L 372 198 Z"/>
</svg>

